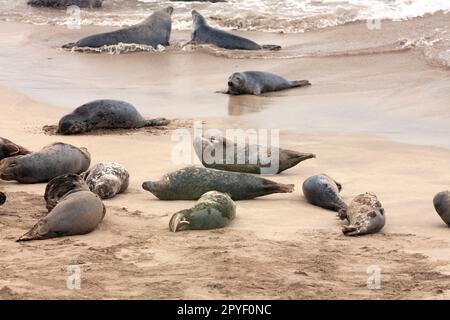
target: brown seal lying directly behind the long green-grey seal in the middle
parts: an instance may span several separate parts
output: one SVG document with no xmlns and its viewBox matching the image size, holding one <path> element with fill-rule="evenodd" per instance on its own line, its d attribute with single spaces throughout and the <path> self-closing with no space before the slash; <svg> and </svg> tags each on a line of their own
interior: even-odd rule
<svg viewBox="0 0 450 320">
<path fill-rule="evenodd" d="M 231 159 L 233 159 L 233 163 L 227 163 L 227 145 L 232 147 L 231 152 L 233 153 L 233 158 Z M 271 150 L 270 147 L 261 149 L 261 146 L 249 145 L 247 143 L 241 146 L 221 136 L 214 136 L 209 139 L 205 137 L 196 138 L 194 141 L 194 149 L 206 168 L 255 174 L 280 173 L 296 166 L 304 160 L 316 157 L 312 153 L 301 153 L 279 148 L 273 148 Z M 216 149 L 222 150 L 222 157 L 218 161 L 214 161 L 213 151 Z M 209 156 L 211 156 L 211 159 L 207 158 Z M 267 160 L 271 158 L 271 160 L 277 163 L 266 164 L 267 161 L 264 161 L 264 158 L 267 158 Z M 262 164 L 261 160 L 265 163 Z"/>
</svg>

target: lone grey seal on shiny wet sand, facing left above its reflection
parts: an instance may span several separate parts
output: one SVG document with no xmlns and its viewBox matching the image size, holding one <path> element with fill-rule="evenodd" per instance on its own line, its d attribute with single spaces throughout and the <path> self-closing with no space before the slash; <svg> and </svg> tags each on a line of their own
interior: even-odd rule
<svg viewBox="0 0 450 320">
<path fill-rule="evenodd" d="M 228 79 L 228 93 L 232 95 L 253 94 L 280 91 L 309 86 L 308 80 L 289 81 L 273 73 L 246 71 L 233 73 Z"/>
</svg>

